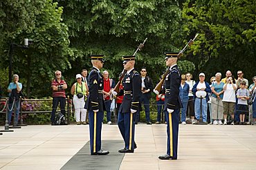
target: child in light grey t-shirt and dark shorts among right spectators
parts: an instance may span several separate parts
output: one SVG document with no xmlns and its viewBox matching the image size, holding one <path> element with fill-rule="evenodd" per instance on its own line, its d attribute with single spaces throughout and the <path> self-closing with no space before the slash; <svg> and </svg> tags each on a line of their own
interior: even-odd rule
<svg viewBox="0 0 256 170">
<path fill-rule="evenodd" d="M 247 100 L 249 99 L 249 91 L 246 89 L 246 82 L 240 83 L 240 88 L 237 90 L 238 99 L 238 110 L 239 110 L 239 124 L 245 124 L 244 118 L 246 117 L 246 112 L 248 112 Z"/>
</svg>

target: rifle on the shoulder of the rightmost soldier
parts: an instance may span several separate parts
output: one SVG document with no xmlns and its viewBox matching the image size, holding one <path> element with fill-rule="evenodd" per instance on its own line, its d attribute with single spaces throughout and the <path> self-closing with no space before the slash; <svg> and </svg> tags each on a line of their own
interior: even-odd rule
<svg viewBox="0 0 256 170">
<path fill-rule="evenodd" d="M 188 44 L 185 45 L 185 47 L 179 52 L 178 54 L 178 59 L 181 58 L 181 56 L 183 55 L 185 49 L 188 47 L 188 46 L 192 46 L 194 40 L 196 39 L 196 37 L 198 36 L 199 34 L 197 33 L 195 36 L 194 36 L 194 39 L 190 39 L 190 41 L 188 41 Z M 154 88 L 154 93 L 156 93 L 156 95 L 158 95 L 162 89 L 162 86 L 163 86 L 163 82 L 165 82 L 165 77 L 170 73 L 170 67 L 167 68 L 167 70 L 165 70 L 165 73 L 163 73 L 162 75 L 162 79 L 161 81 L 156 85 L 156 87 Z"/>
</svg>

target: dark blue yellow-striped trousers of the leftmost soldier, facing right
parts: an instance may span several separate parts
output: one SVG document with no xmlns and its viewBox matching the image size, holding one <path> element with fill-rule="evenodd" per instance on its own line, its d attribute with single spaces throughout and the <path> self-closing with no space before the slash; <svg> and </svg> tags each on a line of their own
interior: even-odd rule
<svg viewBox="0 0 256 170">
<path fill-rule="evenodd" d="M 91 153 L 98 152 L 101 149 L 101 129 L 103 115 L 103 112 L 100 111 L 97 113 L 89 111 Z"/>
</svg>

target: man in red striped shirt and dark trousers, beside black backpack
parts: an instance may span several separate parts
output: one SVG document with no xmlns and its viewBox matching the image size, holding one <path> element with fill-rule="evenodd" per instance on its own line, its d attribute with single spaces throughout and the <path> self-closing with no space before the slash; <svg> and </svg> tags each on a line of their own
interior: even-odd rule
<svg viewBox="0 0 256 170">
<path fill-rule="evenodd" d="M 55 71 L 55 79 L 53 79 L 51 88 L 53 88 L 53 111 L 51 113 L 51 124 L 55 125 L 55 112 L 60 102 L 60 112 L 65 115 L 66 95 L 65 89 L 68 88 L 64 79 L 62 79 L 62 72 Z"/>
</svg>

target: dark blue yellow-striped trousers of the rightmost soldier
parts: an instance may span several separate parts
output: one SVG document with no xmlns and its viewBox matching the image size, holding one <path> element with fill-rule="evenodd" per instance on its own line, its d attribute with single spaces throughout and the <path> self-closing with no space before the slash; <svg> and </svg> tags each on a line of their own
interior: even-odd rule
<svg viewBox="0 0 256 170">
<path fill-rule="evenodd" d="M 167 114 L 167 155 L 177 158 L 180 109 Z"/>
</svg>

